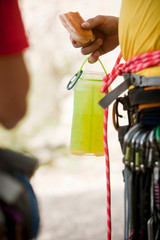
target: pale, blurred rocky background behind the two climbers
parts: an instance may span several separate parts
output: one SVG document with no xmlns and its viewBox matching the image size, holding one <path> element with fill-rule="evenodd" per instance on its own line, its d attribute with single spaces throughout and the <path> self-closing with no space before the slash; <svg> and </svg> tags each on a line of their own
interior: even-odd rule
<svg viewBox="0 0 160 240">
<path fill-rule="evenodd" d="M 28 112 L 12 131 L 0 130 L 1 145 L 39 159 L 32 183 L 39 199 L 38 240 L 105 240 L 106 180 L 104 157 L 69 153 L 73 111 L 70 78 L 85 60 L 74 49 L 59 14 L 79 11 L 84 19 L 98 14 L 119 16 L 119 0 L 20 0 L 30 48 L 25 53 L 31 77 Z M 111 71 L 119 47 L 101 57 Z M 84 66 L 102 71 L 100 64 Z M 118 81 L 116 84 L 118 84 Z M 114 86 L 113 86 L 114 87 Z M 109 116 L 112 239 L 123 238 L 122 155 Z"/>
</svg>

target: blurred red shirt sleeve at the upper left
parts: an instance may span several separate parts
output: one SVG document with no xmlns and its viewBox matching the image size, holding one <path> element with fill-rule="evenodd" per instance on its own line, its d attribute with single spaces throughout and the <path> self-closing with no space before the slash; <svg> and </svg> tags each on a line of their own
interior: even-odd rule
<svg viewBox="0 0 160 240">
<path fill-rule="evenodd" d="M 13 54 L 28 47 L 17 0 L 0 0 L 0 54 Z"/>
</svg>

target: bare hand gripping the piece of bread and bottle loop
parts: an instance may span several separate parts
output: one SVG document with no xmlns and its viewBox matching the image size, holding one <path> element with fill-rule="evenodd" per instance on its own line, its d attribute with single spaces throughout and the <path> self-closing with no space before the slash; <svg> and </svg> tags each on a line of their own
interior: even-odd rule
<svg viewBox="0 0 160 240">
<path fill-rule="evenodd" d="M 118 20 L 113 16 L 98 15 L 82 23 L 84 29 L 92 29 L 95 35 L 95 41 L 87 46 L 82 46 L 75 41 L 72 44 L 75 48 L 81 48 L 83 55 L 91 54 L 90 63 L 98 60 L 99 56 L 112 51 L 119 45 L 118 41 Z"/>
</svg>

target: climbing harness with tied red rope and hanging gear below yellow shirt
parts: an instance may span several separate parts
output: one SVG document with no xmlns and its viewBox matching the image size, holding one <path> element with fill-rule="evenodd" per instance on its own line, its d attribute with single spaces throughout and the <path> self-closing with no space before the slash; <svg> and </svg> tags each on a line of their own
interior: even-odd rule
<svg viewBox="0 0 160 240">
<path fill-rule="evenodd" d="M 104 86 L 101 92 L 105 93 L 105 97 L 99 102 L 100 106 L 105 109 L 104 149 L 107 177 L 107 240 L 111 239 L 107 122 L 108 106 L 114 100 L 116 102 L 113 107 L 113 122 L 118 130 L 125 165 L 123 171 L 125 181 L 124 240 L 158 240 L 160 239 L 160 222 L 159 210 L 156 209 L 160 207 L 160 196 L 158 195 L 160 192 L 160 128 L 158 126 L 160 124 L 160 77 L 145 77 L 132 73 L 151 66 L 159 66 L 160 51 L 133 57 L 125 63 L 120 63 L 121 58 L 120 54 L 111 73 L 104 77 Z M 118 75 L 124 77 L 124 82 L 111 92 L 108 92 L 108 87 Z M 122 98 L 119 97 L 131 85 L 133 88 L 128 91 L 128 95 Z M 126 126 L 119 126 L 119 117 L 122 117 L 118 111 L 119 103 L 123 105 L 124 110 L 128 113 L 129 123 Z"/>
</svg>

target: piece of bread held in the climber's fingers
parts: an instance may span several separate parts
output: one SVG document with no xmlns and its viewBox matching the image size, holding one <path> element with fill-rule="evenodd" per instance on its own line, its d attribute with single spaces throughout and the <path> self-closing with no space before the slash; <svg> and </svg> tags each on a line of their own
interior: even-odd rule
<svg viewBox="0 0 160 240">
<path fill-rule="evenodd" d="M 78 12 L 64 13 L 61 14 L 59 18 L 75 42 L 85 45 L 94 41 L 95 36 L 92 30 L 83 29 L 81 27 L 84 19 Z"/>
</svg>

